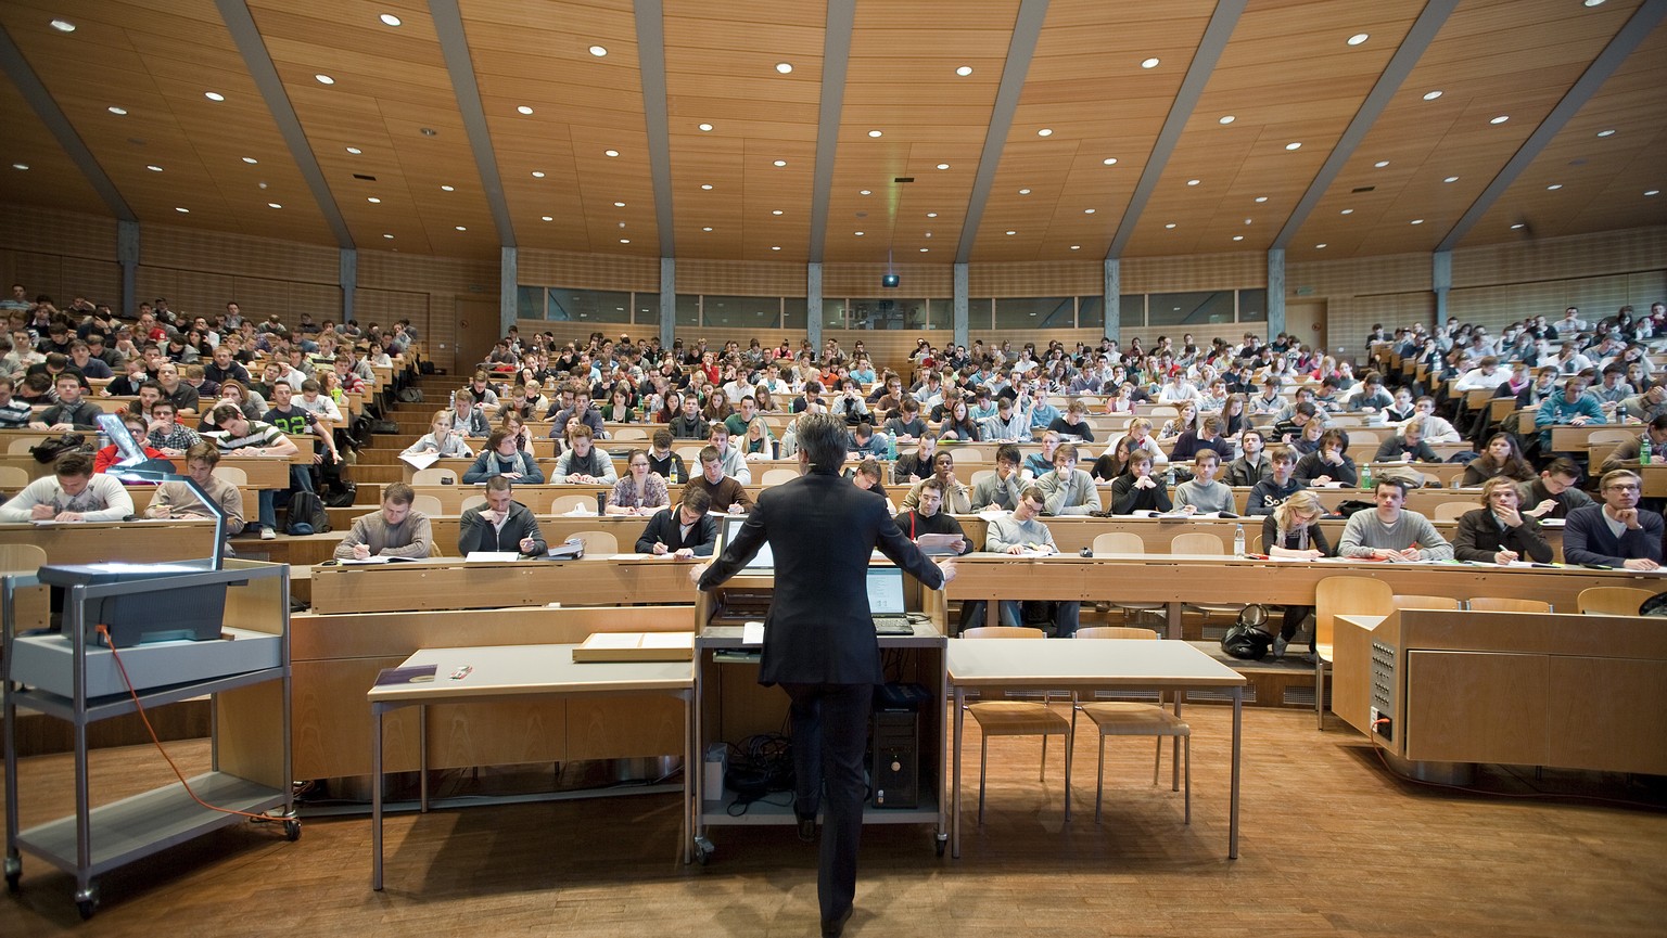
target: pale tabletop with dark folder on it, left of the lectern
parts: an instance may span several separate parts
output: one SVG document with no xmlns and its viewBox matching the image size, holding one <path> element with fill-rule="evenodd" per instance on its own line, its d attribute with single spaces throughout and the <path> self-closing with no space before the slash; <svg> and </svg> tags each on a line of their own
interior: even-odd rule
<svg viewBox="0 0 1667 938">
<path fill-rule="evenodd" d="M 418 703 L 468 696 L 533 693 L 685 691 L 695 685 L 692 661 L 573 661 L 575 645 L 493 645 L 423 648 L 400 663 L 435 665 L 432 681 L 373 686 L 372 703 Z M 468 676 L 452 680 L 458 668 Z"/>
</svg>

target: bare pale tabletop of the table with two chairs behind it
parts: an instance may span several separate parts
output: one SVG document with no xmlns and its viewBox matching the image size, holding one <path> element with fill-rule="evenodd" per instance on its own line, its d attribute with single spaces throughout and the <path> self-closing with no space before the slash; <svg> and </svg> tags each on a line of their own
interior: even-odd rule
<svg viewBox="0 0 1667 938">
<path fill-rule="evenodd" d="M 1239 686 L 1245 676 L 1185 641 L 1140 638 L 952 638 L 957 686 L 1199 688 Z"/>
</svg>

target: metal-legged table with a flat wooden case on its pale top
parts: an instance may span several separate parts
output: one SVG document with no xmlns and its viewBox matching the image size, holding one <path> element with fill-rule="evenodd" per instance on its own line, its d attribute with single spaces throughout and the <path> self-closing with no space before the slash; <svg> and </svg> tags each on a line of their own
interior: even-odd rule
<svg viewBox="0 0 1667 938">
<path fill-rule="evenodd" d="M 668 695 L 683 701 L 683 863 L 690 858 L 693 796 L 690 773 L 698 770 L 688 751 L 690 698 L 695 671 L 692 661 L 620 661 L 573 663 L 575 645 L 498 645 L 477 648 L 423 648 L 400 666 L 435 665 L 435 680 L 372 686 L 365 695 L 375 731 L 370 738 L 370 888 L 382 890 L 382 718 L 402 706 L 418 708 L 422 740 L 427 738 L 425 713 L 432 703 L 503 703 L 550 696 L 642 696 Z M 467 676 L 448 675 L 468 666 Z M 418 743 L 418 771 L 423 778 L 422 810 L 428 810 L 427 743 Z"/>
</svg>

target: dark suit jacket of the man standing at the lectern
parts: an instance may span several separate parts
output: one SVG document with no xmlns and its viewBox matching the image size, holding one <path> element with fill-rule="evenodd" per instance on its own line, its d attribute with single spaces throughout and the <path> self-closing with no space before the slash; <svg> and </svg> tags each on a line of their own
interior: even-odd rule
<svg viewBox="0 0 1667 938">
<path fill-rule="evenodd" d="M 880 683 L 880 645 L 865 590 L 874 548 L 930 588 L 944 573 L 892 521 L 885 498 L 832 471 L 763 490 L 740 533 L 700 578 L 710 590 L 768 541 L 775 595 L 758 683 Z"/>
</svg>

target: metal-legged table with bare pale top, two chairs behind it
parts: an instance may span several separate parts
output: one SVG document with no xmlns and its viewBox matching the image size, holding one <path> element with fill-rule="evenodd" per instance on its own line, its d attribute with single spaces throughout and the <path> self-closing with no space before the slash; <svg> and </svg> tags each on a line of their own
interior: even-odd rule
<svg viewBox="0 0 1667 938">
<path fill-rule="evenodd" d="M 959 581 L 959 580 L 957 580 Z M 1185 641 L 954 638 L 949 683 L 955 691 L 955 768 L 950 853 L 960 856 L 960 750 L 967 690 L 1047 688 L 1074 695 L 1097 690 L 1224 688 L 1234 698 L 1234 755 L 1227 806 L 1227 858 L 1239 858 L 1239 755 L 1244 735 L 1245 678 Z M 1179 700 L 1177 696 L 1177 710 Z M 1067 785 L 1069 788 L 1069 785 Z M 1070 820 L 1070 800 L 1065 803 Z"/>
</svg>

